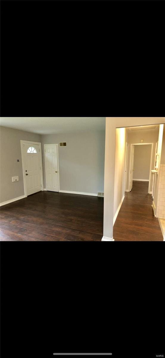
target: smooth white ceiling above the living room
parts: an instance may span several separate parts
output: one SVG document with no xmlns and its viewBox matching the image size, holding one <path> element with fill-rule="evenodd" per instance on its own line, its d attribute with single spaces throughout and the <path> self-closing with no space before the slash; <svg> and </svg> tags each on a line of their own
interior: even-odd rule
<svg viewBox="0 0 165 358">
<path fill-rule="evenodd" d="M 1 117 L 0 125 L 38 134 L 105 130 L 105 117 Z"/>
</svg>

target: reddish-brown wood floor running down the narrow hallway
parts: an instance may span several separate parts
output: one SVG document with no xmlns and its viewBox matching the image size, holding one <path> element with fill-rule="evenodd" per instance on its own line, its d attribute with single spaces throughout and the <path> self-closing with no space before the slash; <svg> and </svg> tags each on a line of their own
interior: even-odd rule
<svg viewBox="0 0 165 358">
<path fill-rule="evenodd" d="M 114 224 L 115 241 L 163 241 L 159 221 L 151 207 L 148 182 L 134 181 Z"/>
</svg>

